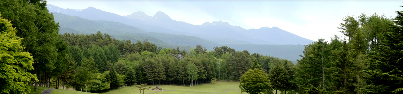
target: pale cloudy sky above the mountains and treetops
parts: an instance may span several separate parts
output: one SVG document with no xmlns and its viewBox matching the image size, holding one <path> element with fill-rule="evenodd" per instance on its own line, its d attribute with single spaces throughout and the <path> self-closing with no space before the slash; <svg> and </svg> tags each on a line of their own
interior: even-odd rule
<svg viewBox="0 0 403 94">
<path fill-rule="evenodd" d="M 176 21 L 193 25 L 223 21 L 245 29 L 278 27 L 317 41 L 330 41 L 340 33 L 343 17 L 366 15 L 396 17 L 403 1 L 398 0 L 48 0 L 60 8 L 89 6 L 118 15 L 142 11 L 154 16 L 159 10 Z"/>
</svg>

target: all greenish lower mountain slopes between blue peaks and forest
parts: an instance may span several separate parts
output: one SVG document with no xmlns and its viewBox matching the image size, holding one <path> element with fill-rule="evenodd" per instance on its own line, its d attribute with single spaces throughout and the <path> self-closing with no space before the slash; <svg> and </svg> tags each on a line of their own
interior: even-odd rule
<svg viewBox="0 0 403 94">
<path fill-rule="evenodd" d="M 263 55 L 289 59 L 293 62 L 295 58 L 300 58 L 299 54 L 302 54 L 304 48 L 301 45 L 217 44 L 193 36 L 145 32 L 133 26 L 112 21 L 94 21 L 60 13 L 53 13 L 53 15 L 56 23 L 60 23 L 59 33 L 89 34 L 101 31 L 102 33 L 108 32 L 109 35 L 119 40 L 125 39 L 136 42 L 137 40 L 143 41 L 144 39 L 148 39 L 157 46 L 166 46 L 167 48 L 180 47 L 181 49 L 189 50 L 191 46 L 202 45 L 207 50 L 214 50 L 215 46 L 229 46 L 239 51 L 258 52 Z"/>
</svg>

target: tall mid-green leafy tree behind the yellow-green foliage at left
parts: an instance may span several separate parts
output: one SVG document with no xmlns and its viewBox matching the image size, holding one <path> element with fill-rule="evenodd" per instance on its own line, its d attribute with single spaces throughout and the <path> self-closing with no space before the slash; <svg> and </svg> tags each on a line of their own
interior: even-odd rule
<svg viewBox="0 0 403 94">
<path fill-rule="evenodd" d="M 33 56 L 35 71 L 30 72 L 37 74 L 39 81 L 45 82 L 43 86 L 50 87 L 50 71 L 55 69 L 54 63 L 58 59 L 56 42 L 60 36 L 58 23 L 46 8 L 46 0 L 2 0 L 0 13 L 15 27 L 16 36 L 24 38 L 21 45 Z M 36 82 L 35 85 L 38 85 Z"/>
</svg>

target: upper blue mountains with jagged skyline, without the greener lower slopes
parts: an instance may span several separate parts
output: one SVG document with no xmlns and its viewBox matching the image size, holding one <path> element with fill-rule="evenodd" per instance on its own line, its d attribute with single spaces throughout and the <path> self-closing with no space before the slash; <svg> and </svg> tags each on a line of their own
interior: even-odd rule
<svg viewBox="0 0 403 94">
<path fill-rule="evenodd" d="M 220 44 L 301 44 L 312 40 L 302 38 L 278 27 L 262 27 L 260 29 L 243 29 L 222 21 L 206 22 L 202 25 L 192 25 L 183 21 L 175 21 L 162 11 L 154 16 L 148 16 L 138 11 L 127 16 L 108 13 L 94 7 L 83 10 L 64 9 L 52 4 L 47 6 L 50 12 L 78 16 L 90 20 L 114 21 L 137 27 L 147 32 L 168 33 L 176 35 L 195 36 Z"/>
</svg>

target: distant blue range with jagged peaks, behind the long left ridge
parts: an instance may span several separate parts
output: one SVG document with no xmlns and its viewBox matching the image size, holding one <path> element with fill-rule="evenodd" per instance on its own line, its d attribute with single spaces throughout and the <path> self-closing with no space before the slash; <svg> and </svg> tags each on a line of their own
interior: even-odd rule
<svg viewBox="0 0 403 94">
<path fill-rule="evenodd" d="M 209 39 L 212 37 L 236 38 L 235 40 L 246 41 L 253 44 L 305 45 L 310 42 L 314 42 L 277 27 L 274 27 L 273 29 L 262 27 L 261 29 L 246 30 L 240 26 L 230 25 L 229 23 L 222 21 L 213 21 L 212 23 L 206 22 L 202 25 L 192 25 L 182 21 L 175 21 L 161 11 L 158 11 L 152 17 L 145 15 L 142 12 L 135 12 L 132 15 L 127 15 L 124 17 L 139 19 L 150 25 L 165 27 L 173 31 L 186 32 L 188 35 L 197 36 L 203 39 Z M 216 43 L 228 43 L 217 39 L 210 39 L 210 41 Z"/>
</svg>

